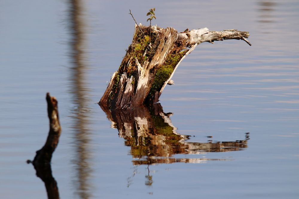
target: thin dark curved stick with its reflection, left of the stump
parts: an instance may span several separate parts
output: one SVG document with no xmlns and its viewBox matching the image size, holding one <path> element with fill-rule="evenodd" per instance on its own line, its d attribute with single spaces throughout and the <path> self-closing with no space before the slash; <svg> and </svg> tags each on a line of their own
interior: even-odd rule
<svg viewBox="0 0 299 199">
<path fill-rule="evenodd" d="M 34 169 L 36 170 L 36 176 L 41 178 L 42 181 L 45 183 L 48 198 L 57 199 L 59 198 L 59 192 L 57 182 L 52 176 L 50 162 L 52 154 L 56 149 L 59 141 L 61 127 L 59 123 L 56 98 L 51 97 L 50 94 L 47 93 L 46 100 L 48 103 L 48 117 L 50 122 L 48 138 L 42 149 L 36 151 L 36 156 L 34 157 L 34 160 L 32 162 L 28 160 L 27 163 L 33 164 Z"/>
</svg>

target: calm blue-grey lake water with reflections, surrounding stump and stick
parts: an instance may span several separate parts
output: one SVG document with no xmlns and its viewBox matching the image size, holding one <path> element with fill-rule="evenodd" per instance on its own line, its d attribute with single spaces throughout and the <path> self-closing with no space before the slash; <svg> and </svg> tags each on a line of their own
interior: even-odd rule
<svg viewBox="0 0 299 199">
<path fill-rule="evenodd" d="M 151 7 L 160 27 L 249 31 L 252 46 L 200 44 L 161 106 L 110 117 L 97 102 L 131 43 L 129 9 L 147 24 Z M 296 0 L 0 1 L 1 198 L 47 198 L 25 163 L 48 134 L 46 92 L 59 103 L 60 198 L 298 198 L 298 10 Z"/>
</svg>

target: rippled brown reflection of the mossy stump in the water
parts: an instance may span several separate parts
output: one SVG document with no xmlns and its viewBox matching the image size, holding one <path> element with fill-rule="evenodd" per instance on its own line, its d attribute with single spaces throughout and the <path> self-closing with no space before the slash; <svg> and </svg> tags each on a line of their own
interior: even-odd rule
<svg viewBox="0 0 299 199">
<path fill-rule="evenodd" d="M 164 113 L 159 103 L 149 108 L 138 106 L 135 109 L 108 110 L 108 119 L 112 127 L 117 128 L 119 136 L 125 139 L 125 145 L 131 147 L 134 164 L 199 162 L 203 159 L 175 159 L 175 154 L 200 154 L 202 152 L 237 151 L 247 148 L 247 140 L 217 143 L 187 142 L 187 135 L 176 132 L 169 115 Z M 246 137 L 248 138 L 248 137 Z"/>
</svg>

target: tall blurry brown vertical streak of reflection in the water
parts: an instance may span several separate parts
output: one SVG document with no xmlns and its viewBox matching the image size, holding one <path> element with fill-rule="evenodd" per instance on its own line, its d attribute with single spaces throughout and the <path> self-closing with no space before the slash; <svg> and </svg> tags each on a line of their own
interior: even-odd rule
<svg viewBox="0 0 299 199">
<path fill-rule="evenodd" d="M 73 67 L 71 68 L 71 93 L 74 99 L 74 146 L 76 147 L 77 157 L 73 160 L 76 164 L 77 176 L 75 180 L 76 194 L 80 198 L 90 198 L 89 191 L 89 176 L 90 169 L 90 151 L 88 149 L 90 137 L 89 129 L 89 108 L 88 98 L 86 96 L 87 89 L 84 86 L 84 74 L 86 66 L 84 64 L 84 22 L 82 17 L 83 5 L 80 0 L 69 1 L 69 13 L 70 13 L 70 32 L 72 36 L 71 41 L 71 61 Z"/>
</svg>

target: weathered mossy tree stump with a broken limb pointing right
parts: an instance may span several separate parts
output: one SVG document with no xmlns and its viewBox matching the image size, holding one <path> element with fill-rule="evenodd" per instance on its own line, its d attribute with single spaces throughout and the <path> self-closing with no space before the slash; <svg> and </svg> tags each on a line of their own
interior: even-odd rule
<svg viewBox="0 0 299 199">
<path fill-rule="evenodd" d="M 140 28 L 140 29 L 139 29 Z M 142 31 L 141 31 L 142 30 Z M 149 37 L 149 33 L 151 36 Z M 238 30 L 210 31 L 208 28 L 185 30 L 135 25 L 132 44 L 109 82 L 99 104 L 111 109 L 130 108 L 158 102 L 181 61 L 202 42 L 242 39 L 248 32 Z"/>
</svg>

